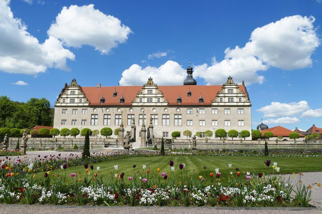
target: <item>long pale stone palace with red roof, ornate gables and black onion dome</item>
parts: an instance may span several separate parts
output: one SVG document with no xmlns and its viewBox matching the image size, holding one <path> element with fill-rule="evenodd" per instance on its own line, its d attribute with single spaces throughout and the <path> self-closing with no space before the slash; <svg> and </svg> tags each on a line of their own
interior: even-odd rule
<svg viewBox="0 0 322 214">
<path fill-rule="evenodd" d="M 134 118 L 139 137 L 143 120 L 148 125 L 152 118 L 155 138 L 171 138 L 179 131 L 179 139 L 186 139 L 185 130 L 202 137 L 211 130 L 211 139 L 217 129 L 251 132 L 251 101 L 244 82 L 238 85 L 228 77 L 223 85 L 197 85 L 192 73 L 189 66 L 187 79 L 177 86 L 158 86 L 150 77 L 143 86 L 83 87 L 73 79 L 55 102 L 54 128 L 114 130 L 123 123 L 131 131 Z"/>
</svg>

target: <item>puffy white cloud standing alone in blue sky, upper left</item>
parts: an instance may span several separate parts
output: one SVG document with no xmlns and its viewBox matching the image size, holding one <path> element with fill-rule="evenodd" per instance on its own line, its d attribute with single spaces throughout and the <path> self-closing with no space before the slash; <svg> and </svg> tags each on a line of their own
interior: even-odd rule
<svg viewBox="0 0 322 214">
<path fill-rule="evenodd" d="M 47 33 L 61 39 L 66 46 L 90 45 L 102 54 L 108 54 L 111 48 L 126 42 L 132 31 L 118 18 L 105 15 L 94 9 L 94 4 L 89 4 L 63 7 Z"/>
</svg>

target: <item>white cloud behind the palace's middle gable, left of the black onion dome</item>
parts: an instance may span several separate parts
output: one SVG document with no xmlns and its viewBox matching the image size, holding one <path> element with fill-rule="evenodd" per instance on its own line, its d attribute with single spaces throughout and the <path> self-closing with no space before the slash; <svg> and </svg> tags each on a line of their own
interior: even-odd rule
<svg viewBox="0 0 322 214">
<path fill-rule="evenodd" d="M 185 69 L 177 62 L 168 60 L 160 67 L 147 66 L 142 68 L 137 64 L 123 71 L 120 85 L 143 85 L 152 77 L 158 85 L 182 85 L 186 78 Z"/>
</svg>

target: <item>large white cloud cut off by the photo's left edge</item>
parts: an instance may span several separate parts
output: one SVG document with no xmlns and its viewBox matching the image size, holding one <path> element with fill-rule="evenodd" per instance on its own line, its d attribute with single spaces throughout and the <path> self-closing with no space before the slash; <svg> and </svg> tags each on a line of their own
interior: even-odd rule
<svg viewBox="0 0 322 214">
<path fill-rule="evenodd" d="M 27 26 L 14 18 L 9 1 L 0 1 L 0 41 L 0 70 L 7 73 L 35 75 L 48 67 L 67 70 L 66 59 L 75 58 L 54 37 L 40 44 L 27 32 Z"/>
</svg>

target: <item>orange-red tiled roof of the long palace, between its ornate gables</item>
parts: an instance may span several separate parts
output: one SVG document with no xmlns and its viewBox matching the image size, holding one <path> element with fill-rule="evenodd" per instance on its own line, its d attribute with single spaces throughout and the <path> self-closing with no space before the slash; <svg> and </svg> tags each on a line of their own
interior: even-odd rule
<svg viewBox="0 0 322 214">
<path fill-rule="evenodd" d="M 245 94 L 243 85 L 238 85 L 239 89 Z M 217 92 L 221 90 L 222 85 L 177 85 L 177 86 L 158 86 L 169 102 L 169 105 L 210 105 L 211 101 L 216 97 Z M 191 97 L 187 96 L 190 88 Z M 104 87 L 81 87 L 85 93 L 90 105 L 101 105 L 100 98 L 105 98 L 105 105 L 131 105 L 137 93 L 141 91 L 142 86 L 104 86 Z M 114 89 L 117 96 L 113 97 Z M 182 103 L 177 103 L 177 98 L 180 93 Z M 125 99 L 124 103 L 120 103 L 120 97 Z M 204 98 L 204 103 L 199 103 L 200 94 Z"/>
</svg>

